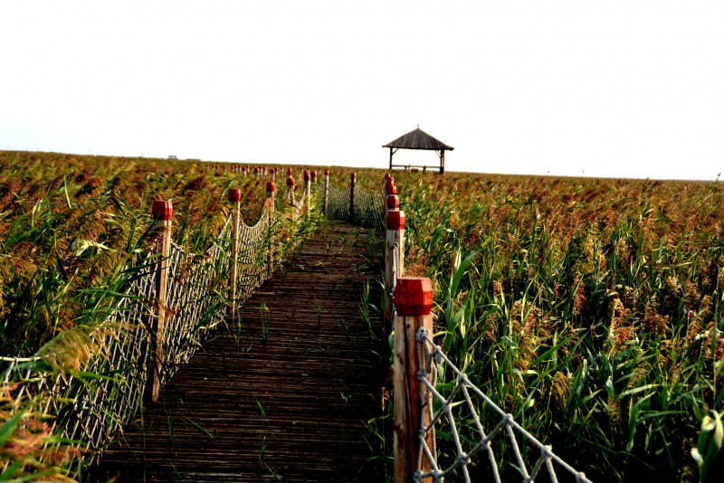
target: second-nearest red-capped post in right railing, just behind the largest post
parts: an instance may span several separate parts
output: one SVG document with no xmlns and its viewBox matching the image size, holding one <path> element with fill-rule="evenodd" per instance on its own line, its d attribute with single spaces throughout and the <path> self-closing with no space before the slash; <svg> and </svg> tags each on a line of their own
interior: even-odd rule
<svg viewBox="0 0 724 483">
<path fill-rule="evenodd" d="M 405 260 L 405 212 L 389 211 L 386 215 L 387 232 L 385 237 L 385 317 L 383 322 L 382 349 L 385 360 L 389 356 L 388 338 L 392 330 L 392 291 L 395 280 L 404 273 Z"/>
</svg>

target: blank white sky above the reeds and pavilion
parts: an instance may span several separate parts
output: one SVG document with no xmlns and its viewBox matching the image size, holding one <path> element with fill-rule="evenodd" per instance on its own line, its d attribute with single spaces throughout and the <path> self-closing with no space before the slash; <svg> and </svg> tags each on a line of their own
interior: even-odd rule
<svg viewBox="0 0 724 483">
<path fill-rule="evenodd" d="M 0 149 L 385 167 L 417 124 L 454 171 L 715 179 L 724 2 L 0 3 Z"/>
</svg>

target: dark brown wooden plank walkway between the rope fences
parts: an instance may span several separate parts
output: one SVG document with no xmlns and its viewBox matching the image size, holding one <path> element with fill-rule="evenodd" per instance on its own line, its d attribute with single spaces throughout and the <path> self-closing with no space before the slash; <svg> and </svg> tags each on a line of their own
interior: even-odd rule
<svg viewBox="0 0 724 483">
<path fill-rule="evenodd" d="M 381 297 L 367 231 L 321 228 L 106 451 L 94 479 L 375 481 L 386 377 L 362 293 Z M 370 308 L 371 330 L 381 320 Z M 264 336 L 264 328 L 268 332 Z"/>
</svg>

